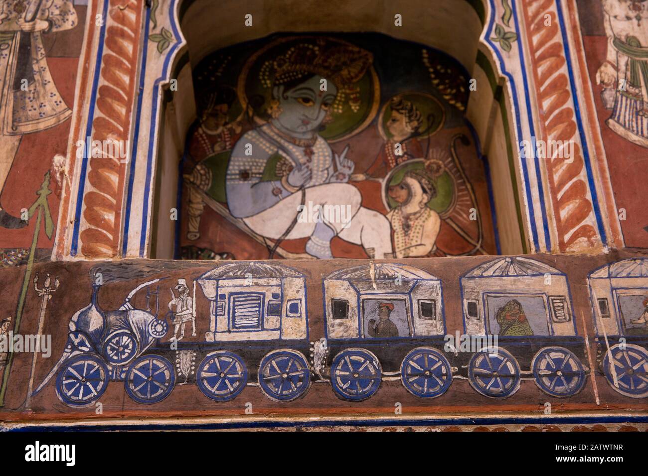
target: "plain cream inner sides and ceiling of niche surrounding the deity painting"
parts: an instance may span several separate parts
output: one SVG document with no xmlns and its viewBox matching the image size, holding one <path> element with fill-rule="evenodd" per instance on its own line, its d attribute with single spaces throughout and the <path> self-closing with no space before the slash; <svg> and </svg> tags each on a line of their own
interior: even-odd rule
<svg viewBox="0 0 648 476">
<path fill-rule="evenodd" d="M 203 0 L 181 3 L 178 13 L 186 43 L 174 56 L 170 74 L 170 78 L 177 79 L 178 87 L 167 88 L 161 108 L 150 256 L 172 258 L 178 253 L 179 223 L 166 220 L 166 210 L 181 206 L 176 199 L 182 181 L 178 164 L 197 109 L 192 72 L 214 51 L 281 32 L 378 32 L 430 47 L 460 63 L 467 80 L 476 80 L 477 86 L 470 92 L 465 119 L 474 130 L 472 139 L 484 156 L 485 173 L 491 180 L 489 205 L 499 245 L 490 252 L 527 251 L 524 205 L 518 194 L 518 170 L 512 160 L 517 148 L 515 139 L 511 139 L 515 132 L 511 130 L 508 89 L 492 60 L 491 49 L 480 40 L 487 5 L 477 0 L 418 4 L 366 1 L 314 6 L 287 1 L 279 6 L 258 0 L 245 4 Z M 251 27 L 244 23 L 248 14 L 252 16 Z M 402 18 L 400 27 L 395 26 L 397 14 Z M 214 28 L 214 22 L 218 28 Z"/>
</svg>

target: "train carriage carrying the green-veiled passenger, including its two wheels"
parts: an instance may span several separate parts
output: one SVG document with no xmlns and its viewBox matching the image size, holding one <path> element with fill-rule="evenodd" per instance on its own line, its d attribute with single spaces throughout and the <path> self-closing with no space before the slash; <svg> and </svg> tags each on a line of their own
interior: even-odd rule
<svg viewBox="0 0 648 476">
<path fill-rule="evenodd" d="M 464 330 L 492 335 L 498 346 L 468 363 L 472 387 L 485 396 L 511 396 L 533 379 L 551 396 L 583 389 L 588 369 L 577 334 L 566 275 L 537 260 L 498 258 L 461 277 Z"/>
</svg>

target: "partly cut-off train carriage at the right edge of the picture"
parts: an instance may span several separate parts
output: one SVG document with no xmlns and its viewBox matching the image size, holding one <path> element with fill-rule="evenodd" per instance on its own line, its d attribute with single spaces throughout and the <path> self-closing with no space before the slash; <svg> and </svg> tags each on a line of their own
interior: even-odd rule
<svg viewBox="0 0 648 476">
<path fill-rule="evenodd" d="M 606 264 L 588 277 L 599 368 L 612 389 L 648 396 L 648 259 Z"/>
</svg>

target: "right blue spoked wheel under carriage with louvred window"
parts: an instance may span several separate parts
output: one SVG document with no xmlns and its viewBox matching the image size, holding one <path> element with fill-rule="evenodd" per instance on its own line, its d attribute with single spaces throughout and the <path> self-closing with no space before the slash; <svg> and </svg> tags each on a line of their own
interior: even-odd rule
<svg viewBox="0 0 648 476">
<path fill-rule="evenodd" d="M 259 387 L 276 402 L 290 402 L 310 387 L 306 357 L 296 350 L 280 349 L 267 354 L 259 365 Z"/>
</svg>

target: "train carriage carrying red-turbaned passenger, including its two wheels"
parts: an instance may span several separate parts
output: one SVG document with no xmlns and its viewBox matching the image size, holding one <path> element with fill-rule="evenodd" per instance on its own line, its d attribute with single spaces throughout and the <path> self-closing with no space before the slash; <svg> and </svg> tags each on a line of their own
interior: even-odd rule
<svg viewBox="0 0 648 476">
<path fill-rule="evenodd" d="M 339 398 L 365 400 L 382 380 L 398 378 L 422 398 L 448 390 L 453 370 L 443 352 L 438 278 L 413 266 L 371 263 L 331 273 L 323 295 L 330 384 Z"/>
</svg>

